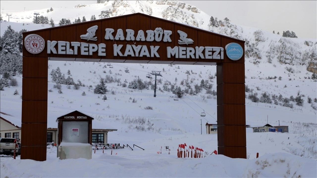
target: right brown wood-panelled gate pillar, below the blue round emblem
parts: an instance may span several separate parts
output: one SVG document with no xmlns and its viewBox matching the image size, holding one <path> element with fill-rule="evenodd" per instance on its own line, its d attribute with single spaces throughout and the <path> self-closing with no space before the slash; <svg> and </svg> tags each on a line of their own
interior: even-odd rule
<svg viewBox="0 0 317 178">
<path fill-rule="evenodd" d="M 244 63 L 217 64 L 218 154 L 247 158 Z"/>
</svg>

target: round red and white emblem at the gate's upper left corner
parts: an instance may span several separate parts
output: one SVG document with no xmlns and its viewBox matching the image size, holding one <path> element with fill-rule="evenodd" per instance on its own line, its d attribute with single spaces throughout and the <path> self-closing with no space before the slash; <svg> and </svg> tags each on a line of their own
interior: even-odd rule
<svg viewBox="0 0 317 178">
<path fill-rule="evenodd" d="M 25 37 L 24 46 L 29 53 L 39 54 L 43 51 L 45 42 L 40 35 L 31 34 Z"/>
</svg>

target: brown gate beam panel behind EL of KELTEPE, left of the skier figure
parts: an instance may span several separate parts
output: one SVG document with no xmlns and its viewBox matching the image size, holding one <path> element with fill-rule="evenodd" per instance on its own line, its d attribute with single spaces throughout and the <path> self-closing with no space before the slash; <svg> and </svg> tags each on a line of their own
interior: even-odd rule
<svg viewBox="0 0 317 178">
<path fill-rule="evenodd" d="M 76 41 L 76 25 L 65 26 L 64 28 L 53 28 L 50 30 L 50 41 Z M 56 51 L 58 51 L 58 44 L 55 45 Z M 79 49 L 79 48 L 78 48 Z M 80 52 L 80 49 L 79 51 Z M 75 55 L 70 54 L 53 54 L 51 52 L 50 57 L 60 58 L 74 58 Z"/>
</svg>

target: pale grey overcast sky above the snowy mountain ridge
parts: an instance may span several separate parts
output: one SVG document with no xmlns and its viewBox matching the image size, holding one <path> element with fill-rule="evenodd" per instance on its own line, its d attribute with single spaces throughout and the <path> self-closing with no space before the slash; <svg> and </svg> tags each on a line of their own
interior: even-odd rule
<svg viewBox="0 0 317 178">
<path fill-rule="evenodd" d="M 1 10 L 37 10 L 92 4 L 91 1 L 0 1 Z M 317 1 L 182 1 L 210 16 L 275 33 L 294 31 L 299 38 L 317 38 Z"/>
</svg>

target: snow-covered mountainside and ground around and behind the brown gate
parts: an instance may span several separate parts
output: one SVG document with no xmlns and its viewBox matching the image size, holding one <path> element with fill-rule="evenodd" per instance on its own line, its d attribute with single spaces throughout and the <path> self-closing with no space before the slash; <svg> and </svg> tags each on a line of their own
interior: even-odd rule
<svg viewBox="0 0 317 178">
<path fill-rule="evenodd" d="M 246 124 L 289 126 L 289 133 L 253 133 L 247 128 L 248 160 L 231 159 L 222 155 L 211 155 L 204 159 L 179 159 L 177 146 L 188 143 L 211 153 L 217 149 L 217 134 L 206 134 L 205 124 L 216 124 L 217 77 L 216 66 L 126 64 L 98 62 L 49 61 L 48 83 L 48 127 L 57 128 L 56 118 L 62 114 L 79 110 L 93 116 L 93 128 L 118 129 L 108 133 L 108 143 L 136 144 L 145 150 L 116 150 L 93 153 L 92 160 L 58 160 L 56 149 L 47 149 L 47 162 L 11 160 L 1 158 L 0 177 L 314 177 L 317 159 L 317 97 L 316 80 L 311 79 L 316 64 L 316 39 L 285 38 L 281 35 L 215 20 L 194 6 L 178 1 L 106 1 L 104 4 L 80 5 L 76 7 L 37 10 L 40 15 L 52 18 L 55 25 L 61 18 L 74 22 L 78 17 L 98 19 L 100 11 L 108 10 L 110 17 L 131 13 L 144 13 L 185 23 L 204 30 L 228 35 L 246 41 L 245 85 Z M 4 12 L 2 12 L 4 16 Z M 33 24 L 34 11 L 12 13 L 10 22 L 1 21 L 0 35 L 10 25 L 19 32 L 50 28 L 49 24 Z M 26 18 L 31 17 L 31 18 Z M 217 14 L 214 15 L 217 17 Z M 4 18 L 5 19 L 5 18 Z M 61 73 L 82 85 L 61 85 L 56 88 L 52 70 Z M 125 73 L 125 69 L 130 73 Z M 69 73 L 68 73 L 69 70 Z M 157 96 L 153 97 L 153 79 L 146 78 L 151 71 L 161 71 L 157 77 Z M 1 74 L 1 78 L 3 74 Z M 128 88 L 136 79 L 147 82 L 149 88 Z M 13 124 L 21 126 L 22 75 L 12 76 L 17 86 L 4 87 L 0 92 L 0 114 Z M 100 79 L 106 79 L 108 92 L 94 94 Z M 207 82 L 211 88 L 195 88 Z M 186 86 L 187 84 L 187 86 Z M 124 86 L 126 85 L 126 86 Z M 180 86 L 188 90 L 175 101 L 171 87 Z M 91 87 L 89 87 L 91 86 Z M 190 87 L 188 87 L 190 86 Z M 193 90 L 191 91 L 190 88 Z M 61 92 L 58 92 L 61 90 Z M 15 91 L 16 95 L 14 95 Z M 208 94 L 207 94 L 207 93 Z M 253 102 L 267 93 L 272 103 Z M 85 95 L 83 94 L 85 93 Z M 107 99 L 104 99 L 106 95 Z M 276 96 L 275 99 L 272 96 Z M 290 99 L 300 97 L 302 105 Z M 312 102 L 308 103 L 307 99 Z M 291 107 L 292 105 L 292 107 Z M 205 111 L 206 117 L 200 117 Z M 202 135 L 201 120 L 202 119 Z M 268 119 L 268 121 L 267 121 Z M 171 149 L 157 151 L 165 146 Z M 256 158 L 256 153 L 260 157 Z M 115 157 L 116 156 L 116 157 Z M 85 170 L 91 165 L 89 170 Z M 228 165 L 230 165 L 228 167 Z M 19 166 L 19 169 L 16 169 Z M 70 167 L 72 166 L 72 167 Z M 46 170 L 61 170 L 50 173 Z M 102 171 L 101 171 L 102 170 Z M 116 174 L 115 174 L 116 173 Z"/>
</svg>

